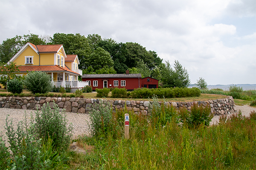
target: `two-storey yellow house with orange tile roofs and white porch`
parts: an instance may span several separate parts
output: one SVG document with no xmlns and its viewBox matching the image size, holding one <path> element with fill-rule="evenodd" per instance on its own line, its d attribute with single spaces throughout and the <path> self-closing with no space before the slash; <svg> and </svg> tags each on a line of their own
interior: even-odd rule
<svg viewBox="0 0 256 170">
<path fill-rule="evenodd" d="M 78 81 L 78 76 L 82 75 L 82 71 L 78 69 L 78 56 L 67 55 L 63 45 L 34 45 L 28 42 L 8 63 L 10 62 L 18 65 L 21 75 L 29 71 L 50 74 L 56 87 L 70 85 L 71 88 L 81 88 L 87 85 Z"/>
</svg>

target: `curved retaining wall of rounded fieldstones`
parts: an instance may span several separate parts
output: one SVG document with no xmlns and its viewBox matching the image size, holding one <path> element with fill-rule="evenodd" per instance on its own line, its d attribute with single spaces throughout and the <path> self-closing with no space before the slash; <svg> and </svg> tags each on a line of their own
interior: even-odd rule
<svg viewBox="0 0 256 170">
<path fill-rule="evenodd" d="M 69 97 L 0 97 L 0 108 L 16 108 L 40 110 L 44 103 L 49 102 L 49 106 L 53 108 L 54 103 L 58 105 L 60 110 L 65 109 L 67 112 L 73 113 L 90 113 L 90 108 L 96 103 L 110 103 L 113 111 L 123 108 L 126 104 L 128 110 L 148 114 L 150 102 L 134 101 L 134 100 L 103 100 L 103 99 L 85 99 L 85 98 L 69 98 Z M 161 104 L 161 102 L 159 102 Z M 165 102 L 165 105 L 173 105 L 179 109 L 186 107 L 191 109 L 192 105 L 210 105 L 212 113 L 215 115 L 230 114 L 236 112 L 234 99 L 232 96 L 226 96 L 225 99 L 215 99 L 199 102 Z"/>
</svg>

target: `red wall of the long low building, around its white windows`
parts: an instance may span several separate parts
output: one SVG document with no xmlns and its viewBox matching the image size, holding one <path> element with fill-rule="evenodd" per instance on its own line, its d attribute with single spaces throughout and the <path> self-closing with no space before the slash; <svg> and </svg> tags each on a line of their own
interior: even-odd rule
<svg viewBox="0 0 256 170">
<path fill-rule="evenodd" d="M 98 80 L 98 87 L 93 87 L 93 81 Z M 141 88 L 141 78 L 82 78 L 82 81 L 91 81 L 93 90 L 96 88 L 103 88 L 103 80 L 108 80 L 108 88 L 126 88 L 127 90 L 134 90 Z M 118 80 L 118 86 L 114 86 L 114 80 Z M 125 86 L 121 86 L 121 80 L 125 80 Z M 110 86 L 111 85 L 111 86 Z"/>
</svg>

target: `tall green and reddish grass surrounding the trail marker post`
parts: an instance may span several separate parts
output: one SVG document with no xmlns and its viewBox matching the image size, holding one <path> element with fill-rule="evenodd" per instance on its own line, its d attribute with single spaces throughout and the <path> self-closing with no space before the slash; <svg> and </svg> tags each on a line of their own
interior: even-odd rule
<svg viewBox="0 0 256 170">
<path fill-rule="evenodd" d="M 151 116 L 116 111 L 112 130 L 104 137 L 81 137 L 95 149 L 73 160 L 73 169 L 256 169 L 255 112 L 249 118 L 238 114 L 222 117 L 219 125 L 188 128 L 179 121 L 180 114 L 167 113 L 170 110 L 161 105 Z M 125 113 L 130 114 L 129 140 L 124 138 Z M 163 121 L 168 117 L 164 114 L 171 116 Z"/>
</svg>

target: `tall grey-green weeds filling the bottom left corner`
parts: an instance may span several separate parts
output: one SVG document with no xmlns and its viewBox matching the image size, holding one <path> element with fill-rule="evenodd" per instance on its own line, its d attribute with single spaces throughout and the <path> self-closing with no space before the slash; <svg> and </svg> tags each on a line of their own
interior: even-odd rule
<svg viewBox="0 0 256 170">
<path fill-rule="evenodd" d="M 42 118 L 44 119 L 44 118 Z M 5 146 L 0 136 L 0 167 L 1 169 L 63 169 L 69 159 L 60 150 L 55 150 L 53 140 L 48 137 L 42 140 L 36 132 L 38 122 L 32 123 L 25 119 L 18 123 L 17 128 L 12 120 L 6 117 L 6 136 L 9 147 Z M 49 126 L 51 126 L 49 124 Z M 16 130 L 17 129 L 17 130 Z M 61 136 L 59 136 L 61 137 Z M 12 154 L 10 154 L 10 150 Z"/>
</svg>

